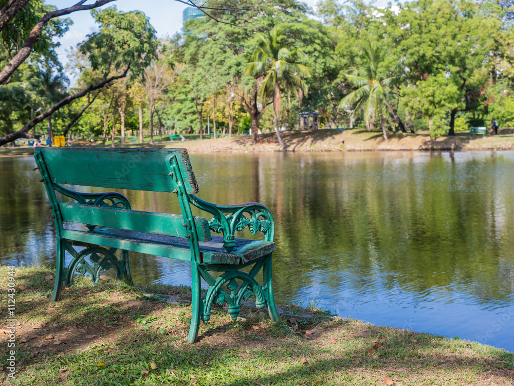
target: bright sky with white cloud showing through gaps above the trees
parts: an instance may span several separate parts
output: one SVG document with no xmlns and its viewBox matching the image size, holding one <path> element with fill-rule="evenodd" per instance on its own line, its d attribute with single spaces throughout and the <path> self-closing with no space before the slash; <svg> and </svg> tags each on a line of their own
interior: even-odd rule
<svg viewBox="0 0 514 386">
<path fill-rule="evenodd" d="M 75 5 L 78 0 L 47 0 L 48 4 L 59 9 Z M 94 0 L 87 0 L 85 4 L 93 4 Z M 314 8 L 318 0 L 305 0 L 305 3 Z M 388 0 L 377 0 L 377 6 L 386 6 Z M 139 10 L 149 17 L 150 23 L 157 31 L 157 37 L 173 36 L 182 28 L 182 11 L 187 5 L 173 0 L 117 0 L 102 8 L 116 6 L 118 10 L 127 12 Z M 63 65 L 67 63 L 66 51 L 70 46 L 76 46 L 85 40 L 86 35 L 97 30 L 97 24 L 91 17 L 90 11 L 79 11 L 67 15 L 72 21 L 69 31 L 60 39 L 61 46 L 57 49 L 59 59 Z"/>
</svg>

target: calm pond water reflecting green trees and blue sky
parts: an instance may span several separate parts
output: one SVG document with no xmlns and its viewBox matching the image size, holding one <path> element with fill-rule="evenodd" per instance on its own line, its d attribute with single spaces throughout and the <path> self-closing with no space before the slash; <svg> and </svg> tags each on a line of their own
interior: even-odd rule
<svg viewBox="0 0 514 386">
<path fill-rule="evenodd" d="M 514 351 L 514 152 L 209 154 L 191 163 L 200 198 L 271 209 L 279 304 L 319 302 L 342 317 Z M 55 263 L 33 167 L 31 157 L 0 158 L 2 265 Z M 134 209 L 179 213 L 175 195 L 122 192 Z M 135 282 L 190 285 L 186 262 L 133 253 L 131 269 Z"/>
</svg>

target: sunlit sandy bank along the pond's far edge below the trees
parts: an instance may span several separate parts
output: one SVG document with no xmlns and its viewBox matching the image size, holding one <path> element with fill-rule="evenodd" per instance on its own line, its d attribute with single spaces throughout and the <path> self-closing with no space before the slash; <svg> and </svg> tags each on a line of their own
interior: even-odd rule
<svg viewBox="0 0 514 386">
<path fill-rule="evenodd" d="M 389 132 L 388 141 L 382 133 L 362 129 L 353 130 L 291 130 L 282 132 L 284 143 L 288 152 L 354 152 L 354 151 L 475 151 L 475 150 L 514 150 L 514 134 L 512 129 L 501 130 L 498 135 L 485 137 L 470 137 L 468 132 L 456 133 L 455 136 L 443 136 L 432 139 L 428 133 L 416 134 Z M 159 136 L 154 136 L 158 141 Z M 166 137 L 166 136 L 165 136 Z M 259 136 L 258 143 L 253 145 L 249 135 L 234 135 L 232 138 L 224 136 L 217 139 L 192 139 L 187 141 L 137 142 L 121 145 L 118 148 L 187 148 L 191 154 L 195 153 L 268 153 L 280 152 L 281 148 L 274 133 L 265 133 Z M 101 141 L 88 145 L 86 141 L 75 141 L 74 147 L 104 147 Z M 105 147 L 111 147 L 107 142 Z M 34 147 L 20 146 L 0 148 L 2 156 L 30 156 Z"/>
</svg>

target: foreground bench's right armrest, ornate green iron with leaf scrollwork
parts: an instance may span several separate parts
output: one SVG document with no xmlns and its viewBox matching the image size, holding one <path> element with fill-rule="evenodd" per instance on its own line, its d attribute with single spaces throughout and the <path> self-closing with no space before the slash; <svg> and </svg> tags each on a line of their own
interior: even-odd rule
<svg viewBox="0 0 514 386">
<path fill-rule="evenodd" d="M 253 235 L 262 232 L 265 241 L 273 241 L 273 216 L 263 204 L 248 202 L 239 205 L 216 205 L 200 200 L 194 195 L 188 197 L 191 204 L 214 216 L 209 221 L 209 228 L 216 233 L 223 232 L 223 246 L 228 252 L 235 247 L 235 231 L 242 231 L 246 226 Z"/>
</svg>

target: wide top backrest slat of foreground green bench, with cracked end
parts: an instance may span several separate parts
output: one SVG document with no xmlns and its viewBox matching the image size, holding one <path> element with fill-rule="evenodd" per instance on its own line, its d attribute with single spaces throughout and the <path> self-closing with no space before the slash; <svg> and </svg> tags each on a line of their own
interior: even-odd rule
<svg viewBox="0 0 514 386">
<path fill-rule="evenodd" d="M 198 184 L 186 149 L 36 148 L 53 183 L 172 191 L 168 157 L 175 154 L 189 194 Z"/>
</svg>

